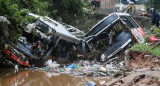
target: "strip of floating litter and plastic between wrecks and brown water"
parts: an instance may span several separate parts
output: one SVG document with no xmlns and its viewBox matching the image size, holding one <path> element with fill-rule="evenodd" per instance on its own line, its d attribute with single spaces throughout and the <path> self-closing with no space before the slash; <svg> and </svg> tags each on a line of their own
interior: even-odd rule
<svg viewBox="0 0 160 86">
<path fill-rule="evenodd" d="M 74 76 L 113 76 L 123 75 L 124 62 L 119 64 L 102 64 L 97 61 L 81 60 L 71 64 L 58 64 L 56 61 L 48 60 L 45 62 L 46 67 L 36 68 L 38 70 L 55 73 L 65 73 Z M 34 68 L 33 68 L 34 69 Z"/>
</svg>

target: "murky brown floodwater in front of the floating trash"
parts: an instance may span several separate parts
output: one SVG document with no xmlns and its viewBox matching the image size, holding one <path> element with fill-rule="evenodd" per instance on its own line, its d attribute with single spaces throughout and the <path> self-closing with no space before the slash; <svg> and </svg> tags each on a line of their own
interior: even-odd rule
<svg viewBox="0 0 160 86">
<path fill-rule="evenodd" d="M 49 73 L 37 70 L 20 69 L 17 74 L 14 69 L 0 69 L 0 86 L 84 86 L 87 81 L 99 81 L 106 78 L 80 77 L 67 74 Z"/>
</svg>

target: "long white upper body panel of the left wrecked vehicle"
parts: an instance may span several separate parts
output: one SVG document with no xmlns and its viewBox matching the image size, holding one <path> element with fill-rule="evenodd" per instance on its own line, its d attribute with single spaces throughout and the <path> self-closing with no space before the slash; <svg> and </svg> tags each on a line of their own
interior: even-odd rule
<svg viewBox="0 0 160 86">
<path fill-rule="evenodd" d="M 34 16 L 36 18 L 39 18 L 37 21 L 43 22 L 46 25 L 48 25 L 48 33 L 53 32 L 55 36 L 58 37 L 58 40 L 66 40 L 69 41 L 71 43 L 75 43 L 75 44 L 79 44 L 81 39 L 80 37 L 77 38 L 76 35 L 81 35 L 84 36 L 84 33 L 78 29 L 76 29 L 73 26 L 70 25 L 66 25 L 65 26 L 47 16 L 39 16 L 39 15 L 35 15 L 33 13 L 29 13 L 30 16 Z M 43 28 L 42 28 L 43 29 Z M 39 29 L 40 30 L 40 29 Z M 73 31 L 74 30 L 74 31 Z M 76 32 L 75 32 L 76 30 Z M 43 32 L 43 31 L 42 31 Z M 58 43 L 58 41 L 57 41 Z"/>
</svg>

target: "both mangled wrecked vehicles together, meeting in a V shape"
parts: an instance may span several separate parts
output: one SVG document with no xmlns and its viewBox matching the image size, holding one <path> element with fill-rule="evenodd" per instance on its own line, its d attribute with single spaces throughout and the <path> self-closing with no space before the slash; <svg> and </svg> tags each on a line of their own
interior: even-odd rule
<svg viewBox="0 0 160 86">
<path fill-rule="evenodd" d="M 22 27 L 23 35 L 15 47 L 5 49 L 13 62 L 23 67 L 37 66 L 50 55 L 72 59 L 77 55 L 87 57 L 95 49 L 102 51 L 99 58 L 105 62 L 125 47 L 144 42 L 144 31 L 127 13 L 110 14 L 86 34 L 47 16 L 32 13 L 29 16 L 37 20 L 34 23 L 26 22 L 26 26 Z"/>
</svg>

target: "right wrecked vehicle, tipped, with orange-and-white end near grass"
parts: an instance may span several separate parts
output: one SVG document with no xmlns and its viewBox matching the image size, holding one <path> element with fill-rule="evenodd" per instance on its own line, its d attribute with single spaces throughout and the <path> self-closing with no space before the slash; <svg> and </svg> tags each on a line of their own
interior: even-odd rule
<svg viewBox="0 0 160 86">
<path fill-rule="evenodd" d="M 82 51 L 87 54 L 96 50 L 105 51 L 101 60 L 115 56 L 127 45 L 144 42 L 145 33 L 127 13 L 113 13 L 91 28 L 82 41 Z"/>
</svg>

